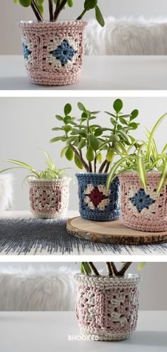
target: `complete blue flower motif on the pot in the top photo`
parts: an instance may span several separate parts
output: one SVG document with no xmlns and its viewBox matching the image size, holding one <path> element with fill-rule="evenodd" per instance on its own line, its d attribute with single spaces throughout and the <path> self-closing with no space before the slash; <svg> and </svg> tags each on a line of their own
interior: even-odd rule
<svg viewBox="0 0 167 352">
<path fill-rule="evenodd" d="M 62 63 L 62 66 L 64 66 L 68 60 L 71 60 L 73 58 L 75 50 L 69 46 L 69 43 L 67 41 L 62 41 L 60 46 L 58 46 L 57 49 L 51 51 L 52 55 L 59 59 L 59 61 Z"/>
</svg>

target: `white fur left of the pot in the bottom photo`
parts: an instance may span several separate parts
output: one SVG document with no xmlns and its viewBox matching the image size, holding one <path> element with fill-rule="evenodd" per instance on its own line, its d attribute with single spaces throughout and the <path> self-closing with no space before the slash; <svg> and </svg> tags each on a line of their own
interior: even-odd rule
<svg viewBox="0 0 167 352">
<path fill-rule="evenodd" d="M 75 306 L 74 272 L 49 266 L 0 272 L 0 311 L 71 311 Z"/>
</svg>

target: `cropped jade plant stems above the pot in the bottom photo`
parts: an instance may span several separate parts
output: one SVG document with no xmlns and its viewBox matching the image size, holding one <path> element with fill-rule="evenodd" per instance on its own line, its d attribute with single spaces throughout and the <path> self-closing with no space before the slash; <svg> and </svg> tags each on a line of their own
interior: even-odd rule
<svg viewBox="0 0 167 352">
<path fill-rule="evenodd" d="M 146 262 L 139 262 L 137 265 L 138 270 L 142 270 Z M 114 262 L 105 262 L 105 266 L 110 277 L 121 277 L 124 276 L 129 267 L 132 265 L 132 262 L 123 262 L 122 266 L 118 270 Z M 100 276 L 96 265 L 93 262 L 81 262 L 81 274 L 86 275 L 96 275 Z"/>
</svg>

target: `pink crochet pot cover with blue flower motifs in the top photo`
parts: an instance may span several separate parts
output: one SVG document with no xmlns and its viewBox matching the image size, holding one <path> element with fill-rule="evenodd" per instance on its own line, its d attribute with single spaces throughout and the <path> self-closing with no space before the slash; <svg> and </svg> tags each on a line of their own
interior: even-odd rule
<svg viewBox="0 0 167 352">
<path fill-rule="evenodd" d="M 77 82 L 84 58 L 84 21 L 21 21 L 23 55 L 30 82 Z"/>
</svg>

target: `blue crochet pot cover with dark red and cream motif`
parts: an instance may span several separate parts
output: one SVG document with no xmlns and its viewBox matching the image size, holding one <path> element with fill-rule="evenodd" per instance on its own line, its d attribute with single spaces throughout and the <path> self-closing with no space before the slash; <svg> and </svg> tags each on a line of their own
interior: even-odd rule
<svg viewBox="0 0 167 352">
<path fill-rule="evenodd" d="M 82 218 L 113 221 L 120 218 L 120 183 L 115 178 L 106 188 L 107 174 L 76 174 L 79 184 L 79 212 Z"/>
</svg>

